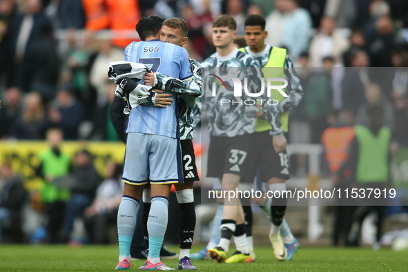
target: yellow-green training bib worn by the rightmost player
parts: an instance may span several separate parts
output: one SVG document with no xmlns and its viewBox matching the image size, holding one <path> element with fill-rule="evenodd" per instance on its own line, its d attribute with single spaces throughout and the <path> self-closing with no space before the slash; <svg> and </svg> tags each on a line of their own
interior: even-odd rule
<svg viewBox="0 0 408 272">
<path fill-rule="evenodd" d="M 240 48 L 241 52 L 247 53 L 245 48 Z M 273 47 L 271 50 L 271 55 L 269 55 L 269 60 L 266 65 L 262 68 L 262 72 L 264 74 L 265 81 L 268 77 L 279 77 L 284 79 L 284 62 L 286 61 L 286 49 Z M 282 69 L 267 69 L 269 67 L 282 67 Z M 271 84 L 281 85 L 282 82 L 273 82 Z M 286 88 L 284 89 L 286 93 Z M 272 99 L 278 100 L 279 102 L 282 101 L 285 97 L 279 93 L 278 90 L 271 90 L 271 97 Z M 288 132 L 288 122 L 289 122 L 289 113 L 280 113 L 279 115 L 280 124 L 282 130 L 287 133 Z M 266 120 L 256 119 L 255 122 L 255 131 L 262 132 L 271 130 L 271 124 Z"/>
</svg>

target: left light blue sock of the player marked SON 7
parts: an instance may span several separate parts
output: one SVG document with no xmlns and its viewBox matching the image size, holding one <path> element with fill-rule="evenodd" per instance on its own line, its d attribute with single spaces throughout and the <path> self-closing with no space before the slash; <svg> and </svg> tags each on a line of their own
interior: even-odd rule
<svg viewBox="0 0 408 272">
<path fill-rule="evenodd" d="M 139 200 L 124 195 L 117 212 L 117 234 L 119 236 L 119 256 L 130 256 L 130 244 L 136 226 L 136 209 Z"/>
</svg>

